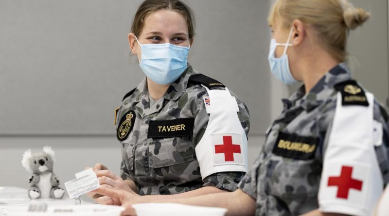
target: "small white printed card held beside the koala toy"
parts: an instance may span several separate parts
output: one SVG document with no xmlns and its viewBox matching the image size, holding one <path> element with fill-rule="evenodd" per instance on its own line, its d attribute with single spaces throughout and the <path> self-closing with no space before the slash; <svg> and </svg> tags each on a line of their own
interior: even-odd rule
<svg viewBox="0 0 389 216">
<path fill-rule="evenodd" d="M 70 198 L 77 198 L 100 187 L 99 180 L 93 169 L 87 169 L 76 174 L 76 179 L 65 183 Z"/>
</svg>

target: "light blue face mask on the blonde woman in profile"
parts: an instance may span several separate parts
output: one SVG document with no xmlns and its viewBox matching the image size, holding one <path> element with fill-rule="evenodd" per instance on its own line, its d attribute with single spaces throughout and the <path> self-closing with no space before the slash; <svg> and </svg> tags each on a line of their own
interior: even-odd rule
<svg viewBox="0 0 389 216">
<path fill-rule="evenodd" d="M 269 64 L 271 73 L 279 80 L 281 80 L 285 84 L 294 84 L 298 83 L 298 81 L 293 78 L 292 73 L 289 68 L 289 59 L 286 51 L 288 47 L 292 47 L 290 44 L 290 40 L 292 37 L 293 28 L 290 30 L 288 41 L 285 44 L 277 43 L 276 39 L 271 39 L 270 42 L 270 51 L 269 51 Z M 275 51 L 277 46 L 284 46 L 285 49 L 283 51 L 283 55 L 280 58 L 276 58 Z"/>
</svg>

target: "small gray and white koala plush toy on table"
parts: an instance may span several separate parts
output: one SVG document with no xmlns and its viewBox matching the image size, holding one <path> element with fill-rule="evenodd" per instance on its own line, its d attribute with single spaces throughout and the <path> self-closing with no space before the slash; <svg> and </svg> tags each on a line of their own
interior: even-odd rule
<svg viewBox="0 0 389 216">
<path fill-rule="evenodd" d="M 61 199 L 64 196 L 65 191 L 59 187 L 59 180 L 53 172 L 54 160 L 54 151 L 48 146 L 44 147 L 42 152 L 35 154 L 31 154 L 31 150 L 24 152 L 21 164 L 32 173 L 28 179 L 29 198 Z"/>
</svg>

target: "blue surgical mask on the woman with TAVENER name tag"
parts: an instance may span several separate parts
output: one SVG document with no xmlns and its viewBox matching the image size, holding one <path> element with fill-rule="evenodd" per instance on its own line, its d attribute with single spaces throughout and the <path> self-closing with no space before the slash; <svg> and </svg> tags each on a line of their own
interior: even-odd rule
<svg viewBox="0 0 389 216">
<path fill-rule="evenodd" d="M 136 38 L 136 37 L 135 37 Z M 142 57 L 139 60 L 144 74 L 160 85 L 176 81 L 187 67 L 188 47 L 165 44 L 141 44 Z"/>
</svg>

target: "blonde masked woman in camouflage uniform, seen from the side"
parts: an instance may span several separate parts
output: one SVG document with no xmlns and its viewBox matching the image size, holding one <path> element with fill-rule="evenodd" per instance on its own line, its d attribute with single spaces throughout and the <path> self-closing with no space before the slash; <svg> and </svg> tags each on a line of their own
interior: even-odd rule
<svg viewBox="0 0 389 216">
<path fill-rule="evenodd" d="M 283 83 L 303 86 L 283 100 L 240 189 L 164 202 L 228 208 L 228 216 L 368 216 L 389 181 L 388 114 L 352 80 L 346 41 L 369 18 L 347 0 L 276 0 L 269 63 Z M 370 71 L 367 71 L 370 72 Z M 147 200 L 99 189 L 127 207 Z"/>
</svg>

